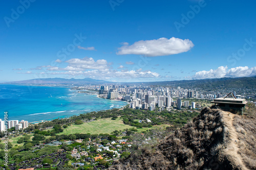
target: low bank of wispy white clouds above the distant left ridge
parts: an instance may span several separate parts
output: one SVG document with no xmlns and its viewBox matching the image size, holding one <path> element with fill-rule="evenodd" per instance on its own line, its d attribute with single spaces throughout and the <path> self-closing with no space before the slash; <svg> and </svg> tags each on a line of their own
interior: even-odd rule
<svg viewBox="0 0 256 170">
<path fill-rule="evenodd" d="M 63 63 L 64 64 L 64 63 Z M 120 70 L 115 70 L 110 68 L 110 63 L 106 60 L 101 59 L 95 61 L 93 58 L 73 58 L 66 61 L 68 66 L 66 67 L 57 67 L 57 66 L 38 66 L 36 69 L 42 69 L 36 74 L 45 74 L 45 75 L 68 75 L 68 76 L 82 76 L 90 77 L 99 80 L 106 80 L 109 78 L 111 80 L 117 81 L 127 81 L 127 80 L 139 80 L 139 79 L 155 79 L 161 77 L 157 72 L 151 70 L 128 70 L 125 66 L 119 65 Z M 131 64 L 131 63 L 130 63 Z M 124 69 L 125 68 L 125 69 Z M 32 73 L 32 72 L 31 72 Z M 29 72 L 23 73 L 29 74 Z"/>
</svg>

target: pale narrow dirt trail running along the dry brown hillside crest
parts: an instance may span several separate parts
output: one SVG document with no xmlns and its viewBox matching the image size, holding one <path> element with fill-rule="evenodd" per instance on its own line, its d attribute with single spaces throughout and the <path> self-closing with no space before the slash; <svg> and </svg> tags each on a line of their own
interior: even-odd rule
<svg viewBox="0 0 256 170">
<path fill-rule="evenodd" d="M 223 111 L 223 119 L 224 119 L 224 124 L 228 128 L 229 136 L 230 136 L 230 141 L 228 141 L 227 148 L 224 150 L 224 152 L 227 155 L 231 155 L 234 161 L 236 162 L 236 164 L 239 165 L 241 169 L 248 170 L 248 168 L 245 166 L 243 162 L 243 158 L 241 157 L 240 154 L 238 154 L 239 139 L 238 139 L 236 128 L 233 126 L 234 114 Z"/>
</svg>

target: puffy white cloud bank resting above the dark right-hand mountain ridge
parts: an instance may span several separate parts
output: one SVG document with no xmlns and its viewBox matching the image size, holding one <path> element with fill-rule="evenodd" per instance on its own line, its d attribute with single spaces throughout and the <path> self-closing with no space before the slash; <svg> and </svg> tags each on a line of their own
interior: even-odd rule
<svg viewBox="0 0 256 170">
<path fill-rule="evenodd" d="M 199 71 L 192 77 L 193 79 L 214 79 L 224 77 L 251 77 L 256 76 L 256 67 L 235 67 L 228 69 L 227 66 L 220 66 L 217 69 L 210 69 L 209 71 Z"/>
</svg>

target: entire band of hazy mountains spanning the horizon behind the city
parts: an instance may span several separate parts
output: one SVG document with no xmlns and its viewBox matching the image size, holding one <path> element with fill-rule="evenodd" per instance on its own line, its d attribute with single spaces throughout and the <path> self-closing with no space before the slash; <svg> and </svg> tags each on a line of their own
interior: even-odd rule
<svg viewBox="0 0 256 170">
<path fill-rule="evenodd" d="M 62 79 L 62 78 L 46 78 L 46 79 L 32 79 L 24 81 L 7 82 L 2 84 L 63 84 L 63 85 L 87 85 L 87 84 L 113 84 L 116 82 L 96 80 L 91 78 L 85 79 Z M 120 83 L 120 82 L 119 82 Z M 162 82 L 124 82 L 121 84 L 130 85 L 172 85 L 181 86 L 182 88 L 256 88 L 256 76 L 254 77 L 240 77 L 240 78 L 220 78 L 220 79 L 201 79 L 201 80 L 177 80 L 177 81 L 162 81 Z"/>
</svg>

